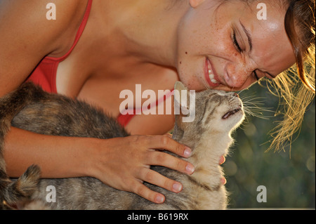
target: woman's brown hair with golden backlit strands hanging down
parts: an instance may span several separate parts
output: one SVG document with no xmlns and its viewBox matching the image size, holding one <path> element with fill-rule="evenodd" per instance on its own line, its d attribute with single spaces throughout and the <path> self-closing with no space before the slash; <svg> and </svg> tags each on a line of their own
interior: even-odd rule
<svg viewBox="0 0 316 224">
<path fill-rule="evenodd" d="M 283 99 L 277 113 L 284 120 L 271 131 L 268 150 L 284 150 L 294 134 L 300 131 L 305 111 L 315 98 L 315 0 L 292 0 L 284 19 L 287 36 L 296 56 L 296 65 L 269 81 L 272 93 Z"/>
</svg>

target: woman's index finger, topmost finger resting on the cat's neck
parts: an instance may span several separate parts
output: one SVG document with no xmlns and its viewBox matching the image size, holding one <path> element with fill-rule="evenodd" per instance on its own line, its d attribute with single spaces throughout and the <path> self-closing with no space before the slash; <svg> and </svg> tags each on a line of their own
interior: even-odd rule
<svg viewBox="0 0 316 224">
<path fill-rule="evenodd" d="M 192 150 L 186 145 L 178 143 L 176 140 L 169 138 L 168 136 L 152 136 L 151 147 L 162 148 L 178 154 L 180 157 L 190 157 Z"/>
</svg>

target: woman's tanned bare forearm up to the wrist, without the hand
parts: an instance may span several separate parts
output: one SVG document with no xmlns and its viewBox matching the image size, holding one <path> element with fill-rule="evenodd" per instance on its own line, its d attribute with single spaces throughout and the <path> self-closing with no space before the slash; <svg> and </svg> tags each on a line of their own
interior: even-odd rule
<svg viewBox="0 0 316 224">
<path fill-rule="evenodd" d="M 8 176 L 21 176 L 32 164 L 41 167 L 42 178 L 87 176 L 88 141 L 93 139 L 45 136 L 12 127 L 4 145 Z"/>
</svg>

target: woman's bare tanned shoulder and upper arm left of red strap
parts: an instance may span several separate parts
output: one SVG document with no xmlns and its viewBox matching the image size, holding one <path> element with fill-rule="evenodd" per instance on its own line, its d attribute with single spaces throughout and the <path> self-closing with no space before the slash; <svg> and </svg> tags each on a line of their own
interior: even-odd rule
<svg viewBox="0 0 316 224">
<path fill-rule="evenodd" d="M 70 48 L 87 3 L 0 1 L 0 96 L 22 84 L 41 58 Z"/>
</svg>

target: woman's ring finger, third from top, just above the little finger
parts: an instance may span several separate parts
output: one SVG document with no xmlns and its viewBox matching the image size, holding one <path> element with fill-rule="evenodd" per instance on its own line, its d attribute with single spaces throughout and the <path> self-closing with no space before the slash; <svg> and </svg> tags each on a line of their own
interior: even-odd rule
<svg viewBox="0 0 316 224">
<path fill-rule="evenodd" d="M 177 181 L 166 178 L 165 176 L 162 176 L 162 174 L 151 169 L 142 169 L 139 178 L 147 183 L 163 187 L 172 192 L 178 193 L 183 189 L 183 186 Z"/>
</svg>

